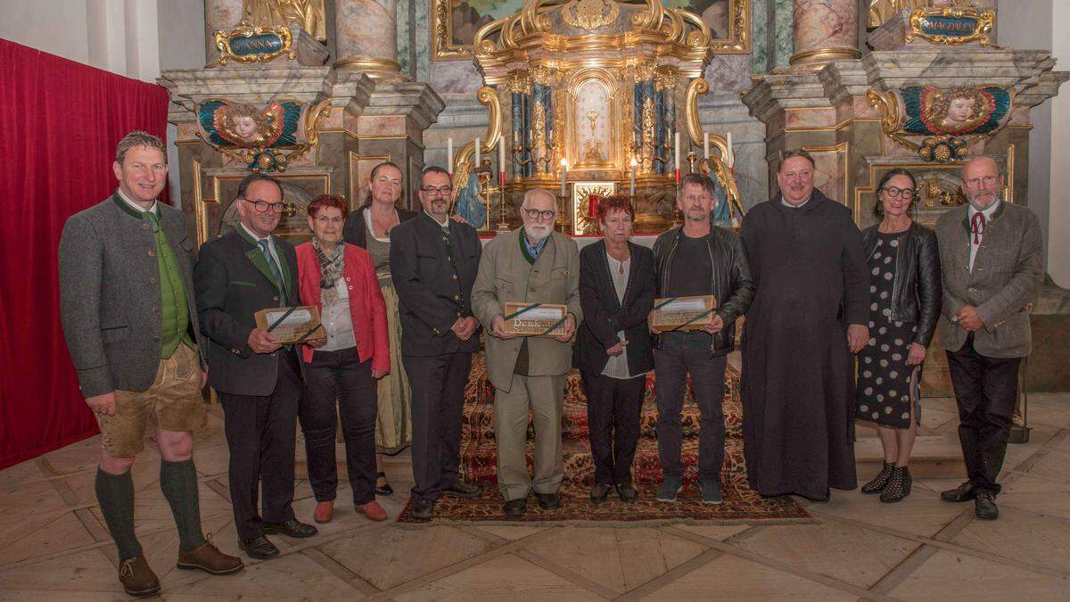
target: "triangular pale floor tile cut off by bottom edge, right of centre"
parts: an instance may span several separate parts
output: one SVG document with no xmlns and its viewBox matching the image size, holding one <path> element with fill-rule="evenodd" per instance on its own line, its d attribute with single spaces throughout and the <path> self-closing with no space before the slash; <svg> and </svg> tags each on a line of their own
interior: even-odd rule
<svg viewBox="0 0 1070 602">
<path fill-rule="evenodd" d="M 857 596 L 725 554 L 644 600 L 858 600 Z"/>
</svg>

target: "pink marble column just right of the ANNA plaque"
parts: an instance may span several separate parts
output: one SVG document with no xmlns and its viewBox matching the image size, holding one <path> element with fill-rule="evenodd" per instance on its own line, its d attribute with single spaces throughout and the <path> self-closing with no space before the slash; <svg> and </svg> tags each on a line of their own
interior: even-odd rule
<svg viewBox="0 0 1070 602">
<path fill-rule="evenodd" d="M 397 0 L 336 0 L 335 70 L 397 75 Z"/>
</svg>

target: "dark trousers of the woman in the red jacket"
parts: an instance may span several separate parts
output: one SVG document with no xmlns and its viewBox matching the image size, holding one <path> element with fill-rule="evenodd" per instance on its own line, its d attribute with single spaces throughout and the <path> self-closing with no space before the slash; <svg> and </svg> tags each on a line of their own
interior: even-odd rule
<svg viewBox="0 0 1070 602">
<path fill-rule="evenodd" d="M 305 364 L 305 396 L 297 418 L 316 501 L 330 501 L 337 495 L 335 428 L 339 417 L 353 503 L 376 499 L 377 393 L 371 360 L 362 362 L 356 347 L 316 351 L 311 363 Z"/>
</svg>

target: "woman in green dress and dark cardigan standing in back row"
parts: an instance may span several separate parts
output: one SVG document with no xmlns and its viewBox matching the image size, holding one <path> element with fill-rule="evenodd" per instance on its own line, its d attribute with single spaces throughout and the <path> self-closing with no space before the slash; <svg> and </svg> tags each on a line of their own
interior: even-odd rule
<svg viewBox="0 0 1070 602">
<path fill-rule="evenodd" d="M 416 216 L 397 206 L 401 198 L 401 169 L 393 163 L 380 163 L 371 170 L 370 197 L 349 214 L 343 238 L 346 242 L 365 249 L 371 255 L 379 286 L 386 301 L 386 322 L 389 330 L 391 373 L 379 379 L 379 407 L 376 420 L 376 493 L 394 493 L 383 471 L 382 454 L 394 455 L 412 442 L 411 393 L 409 378 L 401 364 L 401 322 L 398 297 L 391 280 L 391 229 Z"/>
</svg>

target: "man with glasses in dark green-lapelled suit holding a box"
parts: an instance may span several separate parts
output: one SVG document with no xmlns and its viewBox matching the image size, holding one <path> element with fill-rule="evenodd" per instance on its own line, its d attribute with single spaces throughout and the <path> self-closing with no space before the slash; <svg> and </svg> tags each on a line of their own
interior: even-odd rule
<svg viewBox="0 0 1070 602">
<path fill-rule="evenodd" d="M 301 304 L 297 256 L 271 234 L 282 213 L 278 180 L 247 176 L 234 202 L 241 224 L 201 246 L 194 282 L 201 331 L 212 342 L 209 385 L 223 404 L 239 544 L 253 558 L 271 558 L 278 548 L 266 535 L 317 533 L 294 517 L 291 506 L 301 368 L 294 349 L 257 328 L 254 317 L 268 307 Z"/>
</svg>

